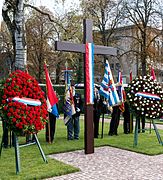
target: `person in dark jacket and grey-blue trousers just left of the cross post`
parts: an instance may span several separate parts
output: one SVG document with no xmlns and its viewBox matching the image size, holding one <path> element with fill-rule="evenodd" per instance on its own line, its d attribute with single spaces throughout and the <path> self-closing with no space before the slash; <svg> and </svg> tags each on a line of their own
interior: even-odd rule
<svg viewBox="0 0 163 180">
<path fill-rule="evenodd" d="M 71 119 L 67 124 L 67 139 L 68 140 L 78 140 L 80 133 L 80 113 L 82 110 L 82 99 L 81 94 L 75 93 L 75 87 L 73 87 L 73 101 L 76 113 L 72 115 Z"/>
</svg>

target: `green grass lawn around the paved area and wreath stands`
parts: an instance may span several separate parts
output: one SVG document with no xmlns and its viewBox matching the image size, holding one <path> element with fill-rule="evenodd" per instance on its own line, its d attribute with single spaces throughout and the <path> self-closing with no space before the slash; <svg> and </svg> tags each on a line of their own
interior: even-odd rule
<svg viewBox="0 0 163 180">
<path fill-rule="evenodd" d="M 0 124 L 1 125 L 1 124 Z M 152 130 L 145 133 L 140 133 L 138 137 L 138 146 L 133 147 L 134 134 L 123 134 L 122 126 L 118 128 L 118 136 L 108 136 L 109 123 L 104 125 L 104 137 L 95 139 L 94 144 L 99 146 L 113 146 L 121 149 L 144 153 L 148 155 L 157 155 L 163 153 L 163 146 L 161 146 L 156 138 L 155 132 Z M 84 122 L 80 121 L 80 140 L 67 141 L 66 126 L 62 119 L 57 120 L 57 127 L 55 133 L 55 142 L 48 144 L 45 142 L 45 131 L 42 130 L 38 134 L 41 147 L 46 154 L 48 163 L 44 163 L 39 149 L 36 145 L 20 148 L 20 167 L 21 172 L 16 175 L 15 171 L 15 152 L 14 148 L 2 149 L 0 158 L 0 179 L 43 179 L 53 176 L 59 176 L 72 172 L 79 171 L 79 169 L 66 165 L 59 161 L 48 158 L 49 154 L 74 151 L 84 148 Z M 100 131 L 101 133 L 101 124 Z M 163 130 L 159 130 L 161 137 Z M 0 140 L 2 138 L 2 127 L 0 127 Z M 25 142 L 24 137 L 19 138 L 20 143 Z"/>
</svg>

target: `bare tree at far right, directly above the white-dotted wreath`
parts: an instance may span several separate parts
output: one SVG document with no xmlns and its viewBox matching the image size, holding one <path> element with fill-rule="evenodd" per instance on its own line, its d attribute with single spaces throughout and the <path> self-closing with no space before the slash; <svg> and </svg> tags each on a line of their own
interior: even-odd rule
<svg viewBox="0 0 163 180">
<path fill-rule="evenodd" d="M 124 0 L 124 17 L 127 23 L 136 26 L 137 44 L 141 61 L 142 75 L 146 75 L 147 60 L 152 56 L 151 45 L 161 35 L 158 30 L 160 25 L 160 11 L 158 0 Z"/>
</svg>

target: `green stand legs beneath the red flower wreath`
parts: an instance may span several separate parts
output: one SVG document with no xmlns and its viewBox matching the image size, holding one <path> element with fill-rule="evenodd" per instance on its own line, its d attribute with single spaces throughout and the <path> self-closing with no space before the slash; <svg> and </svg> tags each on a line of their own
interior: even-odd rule
<svg viewBox="0 0 163 180">
<path fill-rule="evenodd" d="M 19 148 L 20 147 L 26 147 L 26 146 L 30 146 L 30 145 L 33 145 L 33 144 L 37 144 L 44 162 L 48 163 L 36 134 L 33 134 L 34 138 L 35 138 L 35 142 L 29 143 L 29 144 L 23 144 L 23 145 L 19 145 L 18 136 L 16 136 L 15 133 L 13 133 L 13 134 L 14 134 L 14 141 L 15 141 L 14 148 L 15 148 L 16 174 L 18 174 L 20 172 L 20 153 L 19 153 Z M 1 157 L 1 153 L 2 153 L 3 142 L 4 142 L 4 132 L 3 132 L 3 135 L 2 135 L 2 141 L 1 141 L 1 147 L 0 147 L 0 157 Z"/>
</svg>

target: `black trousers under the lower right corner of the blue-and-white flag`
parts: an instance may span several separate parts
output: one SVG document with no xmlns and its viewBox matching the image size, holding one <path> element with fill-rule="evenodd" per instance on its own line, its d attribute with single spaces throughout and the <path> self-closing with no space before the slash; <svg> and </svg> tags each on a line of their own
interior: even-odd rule
<svg viewBox="0 0 163 180">
<path fill-rule="evenodd" d="M 113 112 L 112 112 L 112 118 L 110 121 L 110 130 L 109 130 L 109 135 L 117 135 L 117 129 L 119 125 L 119 120 L 120 120 L 120 109 L 119 106 L 114 106 L 113 107 Z"/>
</svg>

